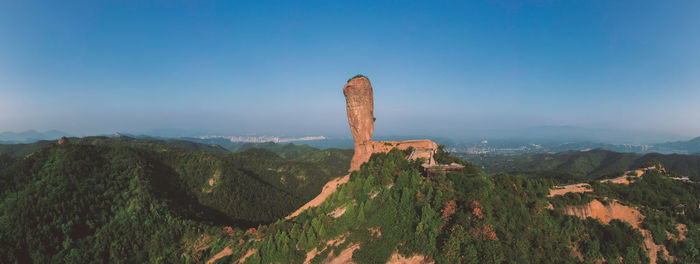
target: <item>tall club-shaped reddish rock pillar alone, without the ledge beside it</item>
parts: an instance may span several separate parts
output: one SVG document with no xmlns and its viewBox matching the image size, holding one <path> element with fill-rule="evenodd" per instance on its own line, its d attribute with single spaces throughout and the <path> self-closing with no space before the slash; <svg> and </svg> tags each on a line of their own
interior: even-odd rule
<svg viewBox="0 0 700 264">
<path fill-rule="evenodd" d="M 355 154 L 350 162 L 350 171 L 355 171 L 372 156 L 372 134 L 374 133 L 372 84 L 365 77 L 352 78 L 343 87 L 343 94 L 347 104 L 350 132 L 355 141 Z"/>
</svg>

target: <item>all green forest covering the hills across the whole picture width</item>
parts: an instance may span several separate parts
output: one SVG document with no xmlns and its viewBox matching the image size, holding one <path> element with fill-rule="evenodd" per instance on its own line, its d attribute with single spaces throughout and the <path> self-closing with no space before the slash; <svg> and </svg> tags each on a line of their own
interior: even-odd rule
<svg viewBox="0 0 700 264">
<path fill-rule="evenodd" d="M 465 168 L 427 176 L 421 160 L 406 159 L 410 150 L 392 150 L 374 154 L 320 206 L 284 220 L 346 173 L 352 151 L 257 146 L 232 153 L 193 142 L 88 137 L 0 148 L 11 149 L 0 152 L 0 262 L 202 263 L 230 250 L 216 263 L 244 256 L 246 263 L 321 263 L 343 252 L 355 263 L 398 255 L 437 263 L 650 263 L 639 229 L 563 210 L 593 200 L 638 208 L 653 243 L 673 256 L 657 263 L 700 256 L 700 187 L 672 180 L 675 172 L 650 171 L 630 185 L 587 174 L 591 192 L 548 197 L 574 178 L 488 174 L 442 147 L 438 162 Z M 622 169 L 640 162 L 610 155 L 601 160 L 625 160 Z M 664 165 L 692 167 L 686 158 Z M 606 162 L 589 160 L 618 167 Z"/>
</svg>

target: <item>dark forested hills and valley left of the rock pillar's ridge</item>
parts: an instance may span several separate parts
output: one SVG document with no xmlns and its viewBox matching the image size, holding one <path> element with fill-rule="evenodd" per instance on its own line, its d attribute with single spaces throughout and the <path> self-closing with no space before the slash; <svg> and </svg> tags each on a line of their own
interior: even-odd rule
<svg viewBox="0 0 700 264">
<path fill-rule="evenodd" d="M 272 222 L 349 167 L 349 155 L 302 149 L 288 160 L 126 137 L 4 147 L 0 262 L 182 262 L 188 237 Z"/>
</svg>

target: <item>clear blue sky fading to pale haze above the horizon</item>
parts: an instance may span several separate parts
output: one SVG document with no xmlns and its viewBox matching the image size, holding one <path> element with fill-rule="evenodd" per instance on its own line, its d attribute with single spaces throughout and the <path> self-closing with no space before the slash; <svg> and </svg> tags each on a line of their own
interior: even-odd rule
<svg viewBox="0 0 700 264">
<path fill-rule="evenodd" d="M 700 1 L 466 2 L 2 1 L 0 131 L 700 136 Z"/>
</svg>

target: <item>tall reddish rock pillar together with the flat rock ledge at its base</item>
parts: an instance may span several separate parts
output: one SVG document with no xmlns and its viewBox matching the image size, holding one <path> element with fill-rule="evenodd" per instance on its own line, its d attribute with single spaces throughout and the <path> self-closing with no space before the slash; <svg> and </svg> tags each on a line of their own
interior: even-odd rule
<svg viewBox="0 0 700 264">
<path fill-rule="evenodd" d="M 424 158 L 427 165 L 434 165 L 433 155 L 437 144 L 431 140 L 408 141 L 372 141 L 374 133 L 374 96 L 372 84 L 367 77 L 358 75 L 350 79 L 343 87 L 348 112 L 350 132 L 355 140 L 355 153 L 350 162 L 350 171 L 360 169 L 360 165 L 369 161 L 373 153 L 388 152 L 393 148 L 408 149 L 412 147 L 410 159 Z"/>
</svg>

